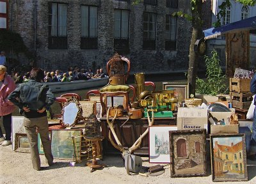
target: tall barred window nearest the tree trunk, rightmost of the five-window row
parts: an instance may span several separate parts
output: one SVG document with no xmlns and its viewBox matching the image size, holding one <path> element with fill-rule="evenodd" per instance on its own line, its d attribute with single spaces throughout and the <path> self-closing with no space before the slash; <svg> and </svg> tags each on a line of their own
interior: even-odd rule
<svg viewBox="0 0 256 184">
<path fill-rule="evenodd" d="M 165 24 L 165 50 L 176 50 L 176 17 L 166 15 Z"/>
</svg>

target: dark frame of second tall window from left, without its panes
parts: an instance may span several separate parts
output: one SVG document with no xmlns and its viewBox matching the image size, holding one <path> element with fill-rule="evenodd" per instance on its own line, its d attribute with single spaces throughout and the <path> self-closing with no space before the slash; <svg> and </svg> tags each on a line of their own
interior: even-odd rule
<svg viewBox="0 0 256 184">
<path fill-rule="evenodd" d="M 82 25 L 82 21 L 83 21 L 83 18 L 82 18 L 82 7 L 83 6 L 87 6 L 88 7 L 88 17 L 86 19 L 88 19 L 88 36 L 82 36 L 82 29 L 83 29 L 83 25 Z M 90 35 L 90 9 L 91 8 L 97 8 L 97 20 L 96 20 L 96 23 L 97 23 L 97 30 L 96 30 L 96 36 L 92 36 Z M 99 24 L 98 24 L 98 21 L 99 21 L 99 11 L 98 11 L 98 6 L 92 6 L 92 5 L 84 5 L 82 4 L 81 5 L 81 41 L 80 41 L 80 49 L 98 49 L 98 28 L 99 28 Z"/>
</svg>

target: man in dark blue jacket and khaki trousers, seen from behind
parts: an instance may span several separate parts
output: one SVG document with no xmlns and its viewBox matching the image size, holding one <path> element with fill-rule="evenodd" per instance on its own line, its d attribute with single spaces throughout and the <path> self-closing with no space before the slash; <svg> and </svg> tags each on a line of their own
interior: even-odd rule
<svg viewBox="0 0 256 184">
<path fill-rule="evenodd" d="M 55 97 L 51 89 L 42 83 L 44 71 L 41 68 L 33 68 L 30 72 L 30 79 L 28 82 L 20 84 L 8 96 L 8 100 L 17 105 L 20 112 L 24 112 L 24 127 L 29 139 L 33 168 L 39 171 L 41 167 L 36 128 L 40 133 L 47 162 L 52 165 L 53 157 L 46 109 L 49 109 L 54 103 Z"/>
</svg>

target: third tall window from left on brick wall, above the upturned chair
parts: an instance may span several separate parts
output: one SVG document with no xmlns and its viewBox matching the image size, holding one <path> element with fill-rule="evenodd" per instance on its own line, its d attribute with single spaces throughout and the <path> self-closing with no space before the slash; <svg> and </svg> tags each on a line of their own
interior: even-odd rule
<svg viewBox="0 0 256 184">
<path fill-rule="evenodd" d="M 129 50 L 129 11 L 115 10 L 115 50 Z"/>
</svg>

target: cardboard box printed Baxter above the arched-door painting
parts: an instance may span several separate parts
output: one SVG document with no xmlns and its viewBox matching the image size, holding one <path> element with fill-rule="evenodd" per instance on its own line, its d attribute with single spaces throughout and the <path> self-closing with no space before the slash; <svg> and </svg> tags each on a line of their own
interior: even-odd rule
<svg viewBox="0 0 256 184">
<path fill-rule="evenodd" d="M 179 107 L 177 114 L 178 130 L 202 129 L 208 132 L 207 109 Z"/>
</svg>

